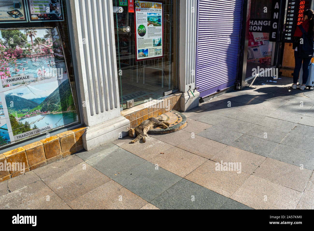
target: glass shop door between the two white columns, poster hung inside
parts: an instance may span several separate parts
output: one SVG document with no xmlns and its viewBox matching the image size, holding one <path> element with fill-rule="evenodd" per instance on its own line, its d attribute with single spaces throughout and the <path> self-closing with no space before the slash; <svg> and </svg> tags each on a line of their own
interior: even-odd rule
<svg viewBox="0 0 314 231">
<path fill-rule="evenodd" d="M 131 2 L 133 2 L 133 12 L 129 7 Z M 177 0 L 135 2 L 113 0 L 121 110 L 127 108 L 129 100 L 134 100 L 136 106 L 144 103 L 145 100 L 160 98 L 164 96 L 164 92 L 171 93 L 178 88 L 179 12 L 177 7 L 173 7 L 177 6 L 176 2 Z M 149 10 L 142 9 L 141 16 L 147 17 L 147 21 L 145 18 L 143 23 L 143 17 L 134 18 L 137 3 L 143 4 L 142 6 L 160 4 L 161 14 L 149 13 Z M 159 36 L 159 32 L 162 32 L 163 36 Z M 139 43 L 139 39 L 146 42 L 144 48 L 140 47 L 142 44 Z M 158 57 L 159 52 L 163 57 L 154 58 Z"/>
</svg>

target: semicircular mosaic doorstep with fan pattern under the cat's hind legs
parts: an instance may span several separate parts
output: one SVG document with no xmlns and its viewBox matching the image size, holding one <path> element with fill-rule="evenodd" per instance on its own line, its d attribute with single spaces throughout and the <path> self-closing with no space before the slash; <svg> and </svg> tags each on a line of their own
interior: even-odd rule
<svg viewBox="0 0 314 231">
<path fill-rule="evenodd" d="M 171 133 L 181 130 L 187 125 L 187 118 L 185 117 L 185 115 L 175 110 L 171 110 L 169 112 L 161 114 L 158 117 L 161 117 L 163 118 L 163 120 L 168 122 L 170 124 L 169 128 L 164 129 L 162 126 L 158 126 L 155 127 L 154 129 L 150 129 L 148 132 L 149 134 Z"/>
</svg>

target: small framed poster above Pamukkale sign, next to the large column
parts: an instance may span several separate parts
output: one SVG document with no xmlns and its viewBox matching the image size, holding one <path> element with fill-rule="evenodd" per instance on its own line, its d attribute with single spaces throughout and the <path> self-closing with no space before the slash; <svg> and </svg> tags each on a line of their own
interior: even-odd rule
<svg viewBox="0 0 314 231">
<path fill-rule="evenodd" d="M 27 0 L 30 22 L 64 21 L 62 0 Z"/>
</svg>

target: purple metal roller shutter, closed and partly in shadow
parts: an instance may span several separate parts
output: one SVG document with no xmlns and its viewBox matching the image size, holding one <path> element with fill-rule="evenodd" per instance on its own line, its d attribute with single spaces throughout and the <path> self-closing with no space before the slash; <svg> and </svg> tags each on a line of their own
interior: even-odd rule
<svg viewBox="0 0 314 231">
<path fill-rule="evenodd" d="M 209 96 L 235 84 L 243 0 L 198 1 L 196 86 Z"/>
</svg>

